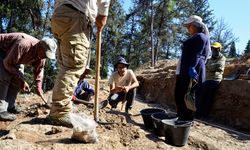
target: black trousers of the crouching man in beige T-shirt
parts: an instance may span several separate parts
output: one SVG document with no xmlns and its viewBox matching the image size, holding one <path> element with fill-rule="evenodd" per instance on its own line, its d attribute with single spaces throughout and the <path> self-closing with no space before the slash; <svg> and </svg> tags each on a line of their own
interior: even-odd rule
<svg viewBox="0 0 250 150">
<path fill-rule="evenodd" d="M 135 96 L 136 96 L 136 88 L 133 88 L 130 89 L 127 94 L 125 94 L 125 92 L 110 94 L 108 97 L 108 101 L 112 107 L 116 107 L 119 102 L 125 100 L 126 101 L 125 109 L 128 110 L 132 108 Z"/>
</svg>

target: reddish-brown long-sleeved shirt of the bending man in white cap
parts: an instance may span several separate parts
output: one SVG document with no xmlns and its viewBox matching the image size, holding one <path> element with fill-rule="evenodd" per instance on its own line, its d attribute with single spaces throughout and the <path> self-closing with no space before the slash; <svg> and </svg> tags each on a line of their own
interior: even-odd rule
<svg viewBox="0 0 250 150">
<path fill-rule="evenodd" d="M 46 59 L 38 57 L 39 51 L 44 51 L 37 43 L 38 39 L 25 33 L 0 34 L 0 50 L 5 52 L 3 59 L 5 69 L 14 75 L 21 87 L 24 85 L 22 73 L 18 70 L 20 64 L 34 67 L 34 80 L 37 88 L 42 89 L 43 72 Z"/>
</svg>

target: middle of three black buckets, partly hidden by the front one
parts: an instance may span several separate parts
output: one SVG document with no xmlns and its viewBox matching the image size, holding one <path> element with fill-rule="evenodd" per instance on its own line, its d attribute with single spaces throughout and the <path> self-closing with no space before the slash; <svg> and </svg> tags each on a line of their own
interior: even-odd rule
<svg viewBox="0 0 250 150">
<path fill-rule="evenodd" d="M 154 124 L 154 130 L 155 134 L 158 136 L 164 136 L 164 125 L 162 123 L 163 119 L 175 119 L 177 120 L 177 114 L 176 113 L 170 113 L 170 112 L 160 112 L 160 113 L 154 113 L 151 115 L 153 124 Z"/>
</svg>

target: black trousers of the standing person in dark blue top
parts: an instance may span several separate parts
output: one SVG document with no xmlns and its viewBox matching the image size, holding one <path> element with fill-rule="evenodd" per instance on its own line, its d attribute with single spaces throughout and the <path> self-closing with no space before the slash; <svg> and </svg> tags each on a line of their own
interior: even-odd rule
<svg viewBox="0 0 250 150">
<path fill-rule="evenodd" d="M 193 120 L 194 112 L 187 109 L 184 97 L 188 90 L 188 85 L 190 82 L 190 78 L 176 76 L 175 83 L 175 103 L 177 107 L 177 115 L 179 120 Z M 195 92 L 195 88 L 192 88 L 192 93 Z"/>
</svg>

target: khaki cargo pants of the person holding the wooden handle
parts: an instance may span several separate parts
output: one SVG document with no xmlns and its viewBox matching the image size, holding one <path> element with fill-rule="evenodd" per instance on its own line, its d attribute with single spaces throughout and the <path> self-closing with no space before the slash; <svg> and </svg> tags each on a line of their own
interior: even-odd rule
<svg viewBox="0 0 250 150">
<path fill-rule="evenodd" d="M 59 72 L 53 88 L 50 116 L 63 117 L 72 112 L 74 87 L 86 67 L 90 23 L 83 13 L 62 5 L 55 10 L 51 25 L 58 40 Z"/>
</svg>

